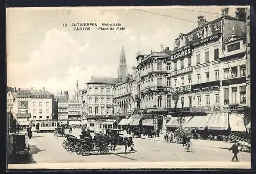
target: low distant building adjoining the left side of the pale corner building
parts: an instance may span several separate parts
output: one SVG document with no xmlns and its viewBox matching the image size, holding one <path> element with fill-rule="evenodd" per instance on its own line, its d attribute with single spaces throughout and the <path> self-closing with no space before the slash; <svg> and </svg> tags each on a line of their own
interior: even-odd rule
<svg viewBox="0 0 256 174">
<path fill-rule="evenodd" d="M 69 100 L 69 125 L 81 125 L 81 102 L 79 100 Z"/>
</svg>

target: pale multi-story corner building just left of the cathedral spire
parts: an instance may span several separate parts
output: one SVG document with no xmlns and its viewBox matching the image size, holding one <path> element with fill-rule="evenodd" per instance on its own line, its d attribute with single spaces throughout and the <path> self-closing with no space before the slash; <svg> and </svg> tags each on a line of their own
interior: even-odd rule
<svg viewBox="0 0 256 174">
<path fill-rule="evenodd" d="M 91 77 L 87 84 L 87 118 L 106 118 L 113 114 L 113 88 L 117 78 Z"/>
</svg>

